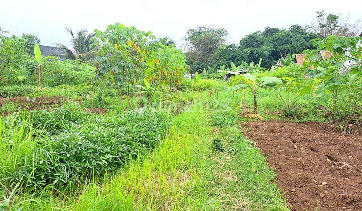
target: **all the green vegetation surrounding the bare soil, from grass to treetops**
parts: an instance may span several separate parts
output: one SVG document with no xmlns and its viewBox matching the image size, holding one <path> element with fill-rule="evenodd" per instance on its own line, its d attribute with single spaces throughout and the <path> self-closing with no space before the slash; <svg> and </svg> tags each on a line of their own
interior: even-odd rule
<svg viewBox="0 0 362 211">
<path fill-rule="evenodd" d="M 68 31 L 64 61 L 0 36 L 0 209 L 286 210 L 244 123 L 362 121 L 361 38 L 294 25 L 225 47 L 199 27 L 183 53 L 120 23 Z"/>
</svg>

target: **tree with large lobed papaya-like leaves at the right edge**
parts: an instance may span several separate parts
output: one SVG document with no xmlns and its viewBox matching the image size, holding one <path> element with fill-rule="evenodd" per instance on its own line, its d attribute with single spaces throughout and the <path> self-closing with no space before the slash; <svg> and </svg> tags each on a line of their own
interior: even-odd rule
<svg viewBox="0 0 362 211">
<path fill-rule="evenodd" d="M 318 48 L 304 52 L 310 60 L 304 66 L 310 77 L 321 80 L 321 83 L 314 88 L 314 97 L 327 96 L 336 104 L 338 89 L 354 82 L 360 75 L 362 49 L 359 43 L 361 42 L 361 38 L 337 37 L 336 35 L 313 41 Z M 330 54 L 329 58 L 326 57 L 327 52 Z M 346 65 L 346 62 L 350 64 Z"/>
</svg>

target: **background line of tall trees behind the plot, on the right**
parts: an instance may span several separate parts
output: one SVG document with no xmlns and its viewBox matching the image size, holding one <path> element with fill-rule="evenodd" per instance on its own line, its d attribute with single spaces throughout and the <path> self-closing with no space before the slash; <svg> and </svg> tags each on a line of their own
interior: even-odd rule
<svg viewBox="0 0 362 211">
<path fill-rule="evenodd" d="M 239 65 L 243 62 L 255 64 L 262 58 L 261 66 L 271 68 L 281 56 L 298 54 L 306 49 L 313 49 L 311 40 L 329 35 L 359 35 L 361 22 L 350 23 L 341 20 L 339 14 L 325 14 L 317 11 L 317 23 L 305 27 L 298 24 L 288 29 L 266 27 L 263 31 L 251 33 L 238 44 L 226 44 L 228 32 L 224 28 L 199 26 L 189 29 L 185 37 L 187 64 L 192 73 L 208 67 L 219 67 L 230 63 Z M 214 68 L 215 69 L 215 68 Z"/>
</svg>

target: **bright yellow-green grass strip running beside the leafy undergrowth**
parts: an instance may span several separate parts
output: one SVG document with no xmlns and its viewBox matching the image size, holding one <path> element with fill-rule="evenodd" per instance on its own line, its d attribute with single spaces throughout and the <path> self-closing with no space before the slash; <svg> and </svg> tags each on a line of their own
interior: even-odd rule
<svg viewBox="0 0 362 211">
<path fill-rule="evenodd" d="M 209 128 L 199 107 L 179 115 L 169 136 L 143 162 L 101 185 L 91 185 L 74 209 L 207 209 L 214 207 L 203 191 L 203 168 Z"/>
</svg>

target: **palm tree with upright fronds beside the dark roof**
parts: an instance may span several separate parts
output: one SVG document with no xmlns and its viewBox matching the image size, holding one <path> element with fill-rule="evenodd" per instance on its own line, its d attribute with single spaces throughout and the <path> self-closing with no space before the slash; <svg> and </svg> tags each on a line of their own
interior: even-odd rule
<svg viewBox="0 0 362 211">
<path fill-rule="evenodd" d="M 71 28 L 65 27 L 65 29 L 71 36 L 70 42 L 72 43 L 74 50 L 69 49 L 64 44 L 57 43 L 56 46 L 64 50 L 64 54 L 61 54 L 61 56 L 65 56 L 68 59 L 80 59 L 82 61 L 89 60 L 89 58 L 92 57 L 91 39 L 93 38 L 94 33 L 88 34 L 88 30 L 80 29 L 76 32 L 76 36 L 74 36 Z M 58 56 L 60 56 L 60 54 L 58 54 Z"/>
</svg>

